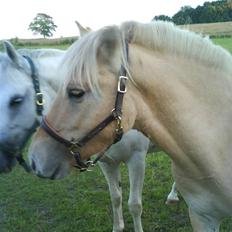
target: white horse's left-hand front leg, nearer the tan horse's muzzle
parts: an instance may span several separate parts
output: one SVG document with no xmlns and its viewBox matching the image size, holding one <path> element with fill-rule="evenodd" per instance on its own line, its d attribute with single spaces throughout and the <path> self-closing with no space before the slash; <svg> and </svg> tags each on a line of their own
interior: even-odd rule
<svg viewBox="0 0 232 232">
<path fill-rule="evenodd" d="M 113 232 L 122 232 L 124 229 L 124 221 L 122 214 L 122 189 L 120 185 L 121 174 L 119 164 L 99 162 L 99 165 L 109 186 L 113 209 Z"/>
</svg>

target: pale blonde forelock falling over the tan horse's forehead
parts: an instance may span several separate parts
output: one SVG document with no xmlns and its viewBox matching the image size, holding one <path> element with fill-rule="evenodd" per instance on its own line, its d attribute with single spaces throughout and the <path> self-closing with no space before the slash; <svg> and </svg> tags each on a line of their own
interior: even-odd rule
<svg viewBox="0 0 232 232">
<path fill-rule="evenodd" d="M 101 39 L 103 39 L 102 35 L 107 29 L 118 30 L 120 33 L 119 28 L 116 26 L 105 27 L 99 31 L 86 34 L 68 49 L 62 62 L 62 75 L 67 77 L 64 87 L 71 81 L 74 84 L 78 83 L 84 89 L 86 87 L 89 88 L 96 96 L 101 93 L 99 86 L 100 76 L 98 75 L 98 51 L 101 46 Z M 118 39 L 120 40 L 119 43 L 123 42 L 122 38 Z M 119 63 L 127 69 L 128 65 L 125 52 L 123 49 L 119 52 L 121 54 Z"/>
</svg>

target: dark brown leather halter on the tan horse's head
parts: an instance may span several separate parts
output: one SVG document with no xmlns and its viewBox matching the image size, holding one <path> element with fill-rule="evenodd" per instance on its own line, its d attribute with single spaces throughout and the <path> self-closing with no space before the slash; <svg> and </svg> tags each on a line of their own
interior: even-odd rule
<svg viewBox="0 0 232 232">
<path fill-rule="evenodd" d="M 128 44 L 126 43 L 126 53 L 128 56 Z M 124 94 L 127 91 L 126 88 L 126 69 L 123 65 L 121 65 L 120 68 L 120 76 L 118 79 L 118 88 L 117 88 L 117 95 L 115 100 L 115 106 L 111 113 L 101 122 L 99 123 L 95 128 L 93 128 L 91 131 L 89 131 L 84 137 L 81 139 L 71 139 L 67 140 L 64 137 L 62 137 L 57 130 L 52 127 L 50 122 L 46 117 L 43 117 L 41 121 L 41 127 L 44 129 L 44 131 L 51 136 L 53 139 L 55 139 L 57 142 L 62 143 L 65 147 L 68 148 L 70 154 L 74 157 L 76 164 L 74 167 L 79 169 L 81 172 L 87 171 L 89 167 L 94 166 L 96 162 L 103 156 L 104 152 L 99 153 L 99 155 L 96 157 L 95 160 L 87 160 L 83 161 L 81 159 L 81 155 L 78 152 L 78 149 L 80 147 L 83 147 L 86 145 L 92 138 L 94 138 L 97 134 L 100 133 L 105 127 L 107 127 L 111 122 L 116 121 L 116 129 L 115 129 L 115 139 L 113 143 L 117 143 L 123 135 L 123 127 L 122 127 L 122 104 L 123 104 L 123 97 Z"/>
</svg>

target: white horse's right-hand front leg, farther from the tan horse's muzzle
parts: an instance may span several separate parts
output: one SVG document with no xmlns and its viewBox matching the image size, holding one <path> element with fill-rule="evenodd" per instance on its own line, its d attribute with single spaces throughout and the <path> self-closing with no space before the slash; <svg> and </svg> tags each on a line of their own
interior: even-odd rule
<svg viewBox="0 0 232 232">
<path fill-rule="evenodd" d="M 145 174 L 146 152 L 136 151 L 126 162 L 130 179 L 128 207 L 133 217 L 135 232 L 142 232 L 142 190 Z"/>
</svg>

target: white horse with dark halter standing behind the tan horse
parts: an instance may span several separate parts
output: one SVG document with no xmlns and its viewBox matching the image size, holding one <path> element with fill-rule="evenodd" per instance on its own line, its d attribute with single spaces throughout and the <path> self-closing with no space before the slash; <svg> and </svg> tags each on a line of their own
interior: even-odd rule
<svg viewBox="0 0 232 232">
<path fill-rule="evenodd" d="M 38 115 L 32 74 L 38 76 L 44 96 L 44 113 L 50 107 L 61 78 L 56 72 L 64 56 L 64 51 L 56 49 L 20 49 L 5 42 L 6 53 L 0 55 L 0 172 L 9 172 L 16 163 L 17 150 L 23 149 L 40 120 Z M 34 65 L 34 70 L 27 56 Z M 4 68 L 5 67 L 5 68 Z M 32 73 L 31 73 L 32 72 Z M 35 73 L 33 73 L 35 72 Z M 113 230 L 124 228 L 122 214 L 122 190 L 119 165 L 125 162 L 129 169 L 130 197 L 129 209 L 133 217 L 135 231 L 142 231 L 142 188 L 145 171 L 145 158 L 149 140 L 136 130 L 130 130 L 122 141 L 112 146 L 99 165 L 107 179 L 113 208 Z M 9 149 L 10 148 L 10 149 Z M 15 153 L 15 154 L 14 154 Z M 171 194 L 171 197 L 170 197 Z M 175 189 L 167 201 L 178 201 Z"/>
</svg>

